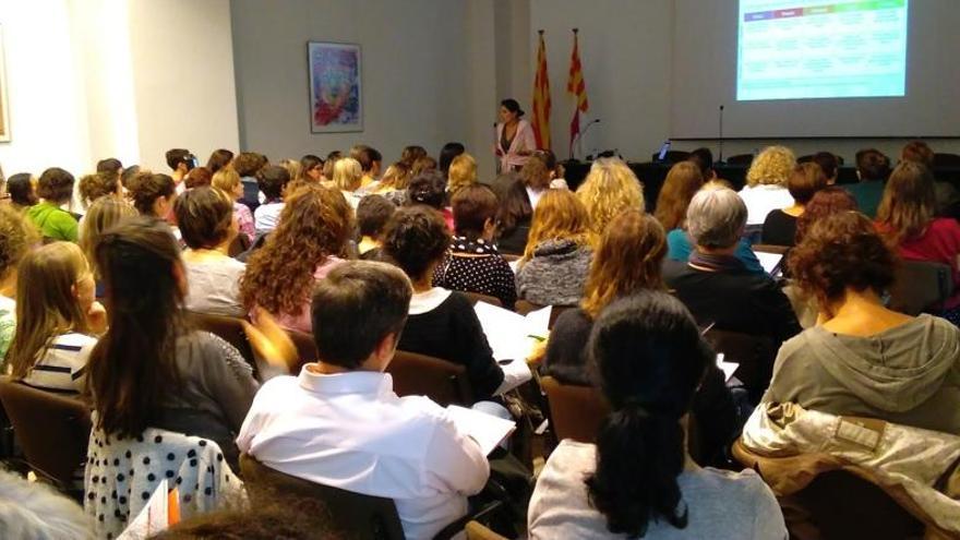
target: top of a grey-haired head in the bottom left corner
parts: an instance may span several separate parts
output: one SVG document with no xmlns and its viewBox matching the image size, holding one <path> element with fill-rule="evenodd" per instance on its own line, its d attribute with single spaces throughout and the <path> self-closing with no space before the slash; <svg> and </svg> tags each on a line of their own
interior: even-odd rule
<svg viewBox="0 0 960 540">
<path fill-rule="evenodd" d="M 0 470 L 0 538 L 94 538 L 83 508 L 46 482 Z"/>
</svg>

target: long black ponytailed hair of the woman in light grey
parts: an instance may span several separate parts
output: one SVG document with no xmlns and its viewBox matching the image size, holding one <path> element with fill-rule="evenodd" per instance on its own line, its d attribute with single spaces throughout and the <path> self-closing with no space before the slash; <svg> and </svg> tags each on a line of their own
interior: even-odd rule
<svg viewBox="0 0 960 540">
<path fill-rule="evenodd" d="M 676 477 L 685 459 L 681 418 L 711 358 L 676 298 L 645 290 L 611 303 L 590 333 L 592 369 L 611 406 L 597 435 L 597 468 L 586 479 L 607 528 L 643 537 L 650 521 L 683 529 L 687 509 Z"/>
</svg>

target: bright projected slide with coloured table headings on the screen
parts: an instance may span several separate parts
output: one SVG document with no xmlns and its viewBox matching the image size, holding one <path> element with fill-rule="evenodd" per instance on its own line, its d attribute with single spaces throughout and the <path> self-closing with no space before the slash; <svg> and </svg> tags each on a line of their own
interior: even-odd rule
<svg viewBox="0 0 960 540">
<path fill-rule="evenodd" d="M 740 0 L 736 99 L 903 96 L 908 0 Z"/>
</svg>

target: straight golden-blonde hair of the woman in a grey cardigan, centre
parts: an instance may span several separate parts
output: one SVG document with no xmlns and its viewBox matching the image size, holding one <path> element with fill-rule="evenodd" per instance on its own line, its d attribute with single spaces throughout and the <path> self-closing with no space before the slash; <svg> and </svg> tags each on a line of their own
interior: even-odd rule
<svg viewBox="0 0 960 540">
<path fill-rule="evenodd" d="M 569 190 L 547 190 L 533 211 L 523 262 L 533 257 L 533 250 L 540 242 L 569 239 L 578 245 L 592 248 L 595 238 L 584 203 Z"/>
</svg>

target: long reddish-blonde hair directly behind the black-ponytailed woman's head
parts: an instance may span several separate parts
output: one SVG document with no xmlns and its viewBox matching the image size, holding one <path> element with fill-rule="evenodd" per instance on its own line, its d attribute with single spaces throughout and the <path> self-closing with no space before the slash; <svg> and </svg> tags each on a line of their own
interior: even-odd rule
<svg viewBox="0 0 960 540">
<path fill-rule="evenodd" d="M 597 319 L 610 302 L 640 289 L 664 290 L 667 233 L 653 216 L 632 209 L 608 227 L 590 264 L 580 308 Z"/>
</svg>

